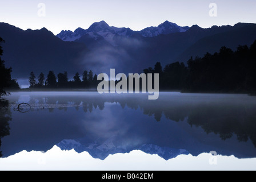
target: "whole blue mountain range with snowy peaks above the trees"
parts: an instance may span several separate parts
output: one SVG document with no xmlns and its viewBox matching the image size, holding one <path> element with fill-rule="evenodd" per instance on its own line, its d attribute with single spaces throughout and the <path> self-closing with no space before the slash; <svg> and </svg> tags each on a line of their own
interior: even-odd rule
<svg viewBox="0 0 256 182">
<path fill-rule="evenodd" d="M 166 21 L 133 31 L 101 21 L 87 30 L 63 30 L 54 35 L 46 28 L 22 30 L 0 23 L 0 36 L 5 40 L 2 58 L 18 79 L 27 79 L 31 71 L 38 76 L 51 70 L 55 74 L 67 71 L 69 78 L 84 70 L 109 73 L 110 68 L 119 73 L 139 73 L 154 67 L 157 61 L 165 67 L 175 61 L 186 63 L 191 56 L 217 52 L 222 46 L 250 46 L 256 40 L 255 32 L 254 23 L 201 28 Z"/>
</svg>

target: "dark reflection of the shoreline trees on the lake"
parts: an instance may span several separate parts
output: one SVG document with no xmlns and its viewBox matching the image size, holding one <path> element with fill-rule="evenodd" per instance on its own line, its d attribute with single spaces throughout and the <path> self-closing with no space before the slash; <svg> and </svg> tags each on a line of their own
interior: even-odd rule
<svg viewBox="0 0 256 182">
<path fill-rule="evenodd" d="M 206 96 L 207 97 L 207 96 Z M 73 97 L 47 97 L 43 101 L 33 99 L 30 103 L 55 104 L 58 103 L 58 110 L 67 111 L 69 107 L 74 106 L 76 110 L 82 109 L 85 113 L 93 112 L 96 109 L 103 110 L 105 103 L 119 104 L 123 109 L 141 109 L 143 114 L 154 117 L 155 121 L 161 122 L 162 118 L 175 122 L 188 122 L 191 127 L 202 127 L 207 133 L 218 134 L 222 140 L 229 139 L 234 135 L 241 142 L 251 140 L 256 147 L 256 103 L 251 102 L 234 102 L 231 100 L 222 101 L 213 96 L 209 100 L 200 100 L 200 97 L 172 96 L 169 98 L 159 98 L 156 101 L 149 101 L 145 97 L 134 98 L 133 96 L 119 97 L 115 96 L 88 96 L 86 98 Z M 47 109 L 44 108 L 44 109 Z M 48 108 L 50 112 L 54 108 Z"/>
</svg>

